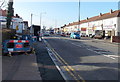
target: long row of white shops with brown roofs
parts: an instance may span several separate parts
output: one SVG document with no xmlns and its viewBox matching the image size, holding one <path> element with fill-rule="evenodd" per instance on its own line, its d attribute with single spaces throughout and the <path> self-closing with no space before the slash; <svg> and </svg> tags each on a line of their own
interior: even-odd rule
<svg viewBox="0 0 120 82">
<path fill-rule="evenodd" d="M 71 33 L 79 31 L 85 35 L 102 35 L 104 38 L 120 36 L 120 10 L 110 10 L 108 13 L 100 13 L 98 16 L 86 18 L 79 22 L 69 23 L 60 28 L 61 32 Z M 57 30 L 58 31 L 58 30 Z"/>
</svg>

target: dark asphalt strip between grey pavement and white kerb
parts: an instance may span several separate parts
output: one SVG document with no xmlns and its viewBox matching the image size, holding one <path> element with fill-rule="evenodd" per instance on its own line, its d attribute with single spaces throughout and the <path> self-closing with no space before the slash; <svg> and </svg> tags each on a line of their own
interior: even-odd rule
<svg viewBox="0 0 120 82">
<path fill-rule="evenodd" d="M 64 82 L 63 77 L 61 76 L 52 59 L 50 58 L 44 42 L 36 42 L 34 46 L 37 58 L 37 65 L 42 80 L 43 81 L 59 80 Z"/>
</svg>

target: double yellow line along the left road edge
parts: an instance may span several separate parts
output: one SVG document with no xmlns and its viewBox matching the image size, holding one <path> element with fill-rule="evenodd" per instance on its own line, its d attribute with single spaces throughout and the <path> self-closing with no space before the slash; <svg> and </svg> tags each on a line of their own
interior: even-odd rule
<svg viewBox="0 0 120 82">
<path fill-rule="evenodd" d="M 74 80 L 76 80 L 77 82 L 85 82 L 85 80 L 75 72 L 74 68 L 72 68 L 51 46 L 47 41 L 44 41 L 47 45 L 48 48 L 51 49 L 51 51 L 54 53 L 54 56 L 56 57 L 56 59 L 61 62 L 62 64 L 64 64 L 65 66 L 64 69 L 73 77 Z"/>
</svg>

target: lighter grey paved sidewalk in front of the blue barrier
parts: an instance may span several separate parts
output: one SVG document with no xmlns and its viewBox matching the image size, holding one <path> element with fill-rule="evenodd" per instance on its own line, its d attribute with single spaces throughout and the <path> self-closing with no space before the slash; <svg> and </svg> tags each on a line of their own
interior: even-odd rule
<svg viewBox="0 0 120 82">
<path fill-rule="evenodd" d="M 15 55 L 2 58 L 3 80 L 41 80 L 36 55 Z"/>
</svg>

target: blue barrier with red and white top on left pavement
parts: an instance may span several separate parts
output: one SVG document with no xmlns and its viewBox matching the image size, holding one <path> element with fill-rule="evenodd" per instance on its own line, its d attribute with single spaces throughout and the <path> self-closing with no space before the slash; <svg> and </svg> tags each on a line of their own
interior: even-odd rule
<svg viewBox="0 0 120 82">
<path fill-rule="evenodd" d="M 33 47 L 31 46 L 30 40 L 5 40 L 2 45 L 3 54 L 9 54 L 15 52 L 32 52 Z"/>
</svg>

